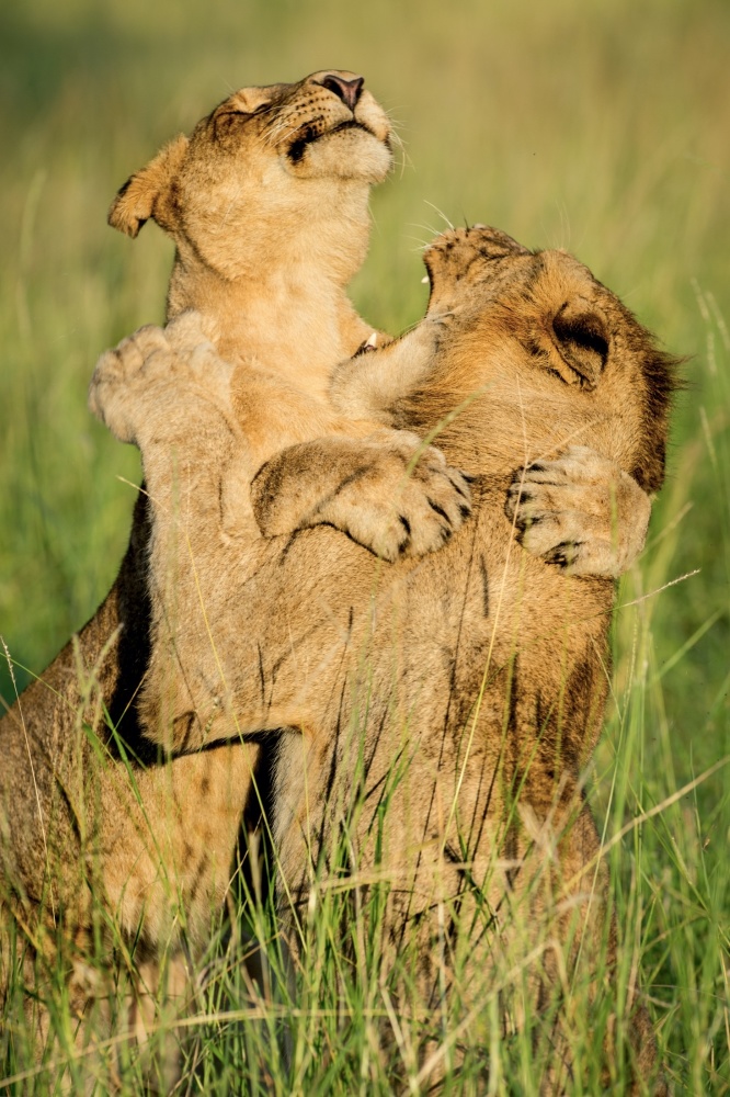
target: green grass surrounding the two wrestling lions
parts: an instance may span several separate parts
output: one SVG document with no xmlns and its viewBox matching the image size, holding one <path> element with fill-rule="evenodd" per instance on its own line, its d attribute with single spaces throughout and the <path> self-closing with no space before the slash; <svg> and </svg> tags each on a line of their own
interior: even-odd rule
<svg viewBox="0 0 730 1097">
<path fill-rule="evenodd" d="M 135 482 L 137 455 L 92 421 L 85 387 L 105 347 L 161 318 L 171 248 L 155 227 L 134 244 L 113 234 L 106 207 L 231 88 L 350 67 L 399 120 L 406 156 L 374 197 L 354 287 L 374 324 L 419 316 L 419 247 L 443 211 L 575 251 L 689 355 L 650 543 L 621 584 L 615 697 L 591 774 L 606 840 L 636 821 L 609 853 L 623 955 L 687 1094 L 730 1092 L 730 767 L 704 777 L 730 755 L 729 53 L 723 0 L 25 0 L 0 13 L 0 634 L 20 685 L 109 588 L 134 501 L 118 477 Z M 2 668 L 0 688 L 12 697 Z M 387 1093 L 393 1062 L 408 1071 L 408 1040 L 374 1050 L 368 1018 L 387 1015 L 387 995 L 377 973 L 340 970 L 338 918 L 322 916 L 323 959 L 290 1019 L 300 1092 Z M 225 957 L 186 1049 L 220 1093 L 276 1047 L 271 1015 L 204 1019 L 246 1000 Z M 472 1048 L 493 1079 L 499 1062 L 511 1092 L 535 1092 L 524 1041 L 497 1039 L 495 1000 Z M 27 1068 L 2 1039 L 0 1075 Z M 577 1027 L 577 1047 L 592 1039 Z M 52 1074 L 38 1077 L 42 1093 Z"/>
</svg>

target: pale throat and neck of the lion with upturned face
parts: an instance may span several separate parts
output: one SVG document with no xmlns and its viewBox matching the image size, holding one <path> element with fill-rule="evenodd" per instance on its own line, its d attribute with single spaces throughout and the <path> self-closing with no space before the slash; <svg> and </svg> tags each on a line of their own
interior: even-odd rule
<svg viewBox="0 0 730 1097">
<path fill-rule="evenodd" d="M 168 319 L 196 309 L 226 361 L 253 363 L 326 399 L 332 367 L 372 332 L 347 296 L 367 251 L 366 197 L 344 212 L 321 204 L 317 217 L 299 212 L 296 233 L 247 226 L 235 257 L 225 241 L 220 253 L 203 256 L 179 239 Z"/>
</svg>

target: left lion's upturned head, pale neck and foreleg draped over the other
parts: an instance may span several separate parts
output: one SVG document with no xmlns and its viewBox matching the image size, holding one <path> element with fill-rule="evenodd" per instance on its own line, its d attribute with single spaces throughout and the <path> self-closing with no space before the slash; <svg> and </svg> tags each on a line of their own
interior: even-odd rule
<svg viewBox="0 0 730 1097">
<path fill-rule="evenodd" d="M 390 168 L 389 137 L 387 116 L 352 72 L 244 89 L 133 176 L 110 211 L 110 224 L 130 236 L 151 217 L 175 241 L 168 316 L 180 319 L 167 338 L 190 344 L 198 325 L 199 340 L 207 336 L 233 366 L 230 404 L 246 455 L 237 456 L 240 490 L 230 476 L 235 500 L 226 502 L 239 534 L 247 517 L 259 532 L 249 486 L 261 465 L 328 434 L 352 443 L 319 460 L 320 498 L 289 517 L 289 531 L 327 522 L 395 559 L 441 547 L 469 511 L 466 483 L 436 451 L 411 433 L 344 419 L 328 398 L 332 365 L 377 339 L 345 286 L 365 257 L 369 184 Z M 104 376 L 102 369 L 92 382 L 92 409 L 117 438 L 135 441 L 114 398 L 99 392 Z M 363 462 L 368 476 L 357 493 L 338 491 Z"/>
</svg>

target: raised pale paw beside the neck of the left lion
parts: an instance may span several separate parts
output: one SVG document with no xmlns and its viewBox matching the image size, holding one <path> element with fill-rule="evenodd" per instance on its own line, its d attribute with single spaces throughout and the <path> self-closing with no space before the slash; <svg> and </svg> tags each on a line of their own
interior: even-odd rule
<svg viewBox="0 0 730 1097">
<path fill-rule="evenodd" d="M 206 339 L 195 313 L 163 330 L 139 328 L 99 359 L 89 386 L 89 409 L 121 442 L 140 444 L 150 428 L 180 420 L 186 402 L 227 394 L 232 366 Z"/>
</svg>

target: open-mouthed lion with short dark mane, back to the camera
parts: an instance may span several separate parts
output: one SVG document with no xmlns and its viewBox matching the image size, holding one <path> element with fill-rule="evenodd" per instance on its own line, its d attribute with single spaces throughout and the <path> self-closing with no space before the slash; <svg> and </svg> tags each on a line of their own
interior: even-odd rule
<svg viewBox="0 0 730 1097">
<path fill-rule="evenodd" d="M 614 584 L 580 576 L 581 554 L 609 574 L 635 480 L 646 491 L 662 483 L 672 360 L 564 252 L 478 227 L 444 234 L 425 262 L 423 321 L 344 362 L 331 385 L 349 417 L 438 432 L 447 460 L 474 477 L 472 521 L 419 561 L 384 570 L 327 528 L 260 541 L 255 559 L 242 553 L 231 516 L 210 505 L 248 444 L 223 396 L 229 369 L 210 347 L 166 346 L 153 331 L 100 363 L 94 400 L 141 446 L 158 566 L 180 534 L 169 453 L 183 433 L 183 488 L 194 480 L 182 525 L 195 581 L 181 575 L 175 589 L 184 688 L 162 721 L 167 681 L 149 682 L 147 734 L 189 751 L 233 728 L 290 728 L 273 829 L 295 950 L 320 884 L 343 872 L 345 835 L 361 902 L 368 881 L 388 885 L 384 963 L 412 940 L 424 1006 L 438 1016 L 453 979 L 468 1016 L 493 997 L 499 972 L 522 971 L 522 996 L 501 992 L 503 1025 L 525 1010 L 551 1018 L 544 1092 L 560 1093 L 572 1070 L 566 988 L 582 964 L 592 1000 L 593 965 L 603 950 L 611 974 L 616 947 L 583 792 L 608 690 Z M 311 490 L 311 448 L 330 442 L 308 443 L 308 455 L 295 445 L 260 471 L 264 529 Z M 571 513 L 575 534 L 557 543 Z M 643 1008 L 629 1006 L 638 1093 L 655 1076 L 654 1041 Z"/>
</svg>

